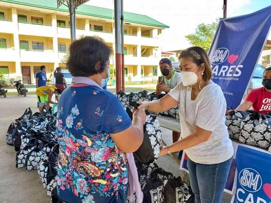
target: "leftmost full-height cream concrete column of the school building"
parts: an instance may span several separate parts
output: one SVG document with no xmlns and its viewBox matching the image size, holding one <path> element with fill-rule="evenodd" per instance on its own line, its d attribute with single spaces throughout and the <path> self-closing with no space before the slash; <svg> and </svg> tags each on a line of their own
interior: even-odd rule
<svg viewBox="0 0 271 203">
<path fill-rule="evenodd" d="M 22 69 L 21 69 L 21 61 L 20 61 L 20 40 L 19 40 L 19 30 L 18 30 L 18 17 L 17 17 L 17 9 L 11 8 L 11 16 L 12 16 L 12 23 L 14 27 L 13 33 L 13 41 L 14 41 L 14 49 L 16 55 L 14 56 L 15 60 L 15 70 L 16 76 L 18 80 L 22 79 Z"/>
</svg>

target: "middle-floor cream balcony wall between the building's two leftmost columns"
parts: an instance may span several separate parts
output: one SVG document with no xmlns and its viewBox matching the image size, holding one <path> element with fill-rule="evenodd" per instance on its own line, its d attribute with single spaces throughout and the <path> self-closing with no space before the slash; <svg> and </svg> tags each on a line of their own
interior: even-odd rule
<svg viewBox="0 0 271 203">
<path fill-rule="evenodd" d="M 20 50 L 22 62 L 48 62 L 53 63 L 56 60 L 56 54 L 53 50 Z"/>
</svg>

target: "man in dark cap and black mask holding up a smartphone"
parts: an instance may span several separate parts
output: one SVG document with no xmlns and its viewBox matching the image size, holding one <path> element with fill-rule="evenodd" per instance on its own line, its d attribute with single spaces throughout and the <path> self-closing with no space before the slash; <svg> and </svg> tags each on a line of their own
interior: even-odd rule
<svg viewBox="0 0 271 203">
<path fill-rule="evenodd" d="M 171 61 L 168 58 L 162 58 L 159 62 L 159 66 L 160 71 L 163 75 L 162 77 L 164 77 L 164 80 L 162 80 L 163 78 L 159 77 L 160 81 L 159 79 L 157 81 L 155 91 L 155 94 L 157 96 L 160 96 L 162 92 L 165 92 L 167 94 L 171 89 L 176 87 L 177 84 L 182 82 L 181 74 L 179 72 L 173 72 Z M 180 133 L 172 131 L 172 142 L 173 143 L 177 142 L 179 138 Z M 182 158 L 181 154 L 182 152 L 180 152 L 178 159 Z"/>
</svg>

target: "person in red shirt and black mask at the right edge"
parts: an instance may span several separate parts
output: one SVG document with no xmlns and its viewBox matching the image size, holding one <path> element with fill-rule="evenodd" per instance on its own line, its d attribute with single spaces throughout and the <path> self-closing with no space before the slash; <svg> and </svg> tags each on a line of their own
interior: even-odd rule
<svg viewBox="0 0 271 203">
<path fill-rule="evenodd" d="M 231 111 L 247 111 L 253 108 L 253 111 L 267 114 L 271 112 L 271 68 L 266 68 L 262 80 L 263 87 L 257 88 L 249 92 L 245 101 L 235 110 L 227 111 L 227 115 Z"/>
</svg>

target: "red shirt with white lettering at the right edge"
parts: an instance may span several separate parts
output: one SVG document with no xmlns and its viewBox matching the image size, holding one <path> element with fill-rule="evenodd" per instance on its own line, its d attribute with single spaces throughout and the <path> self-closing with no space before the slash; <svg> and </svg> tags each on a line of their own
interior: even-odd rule
<svg viewBox="0 0 271 203">
<path fill-rule="evenodd" d="M 264 87 L 257 88 L 249 92 L 246 101 L 253 103 L 253 110 L 266 114 L 271 112 L 271 92 L 266 91 Z"/>
</svg>

